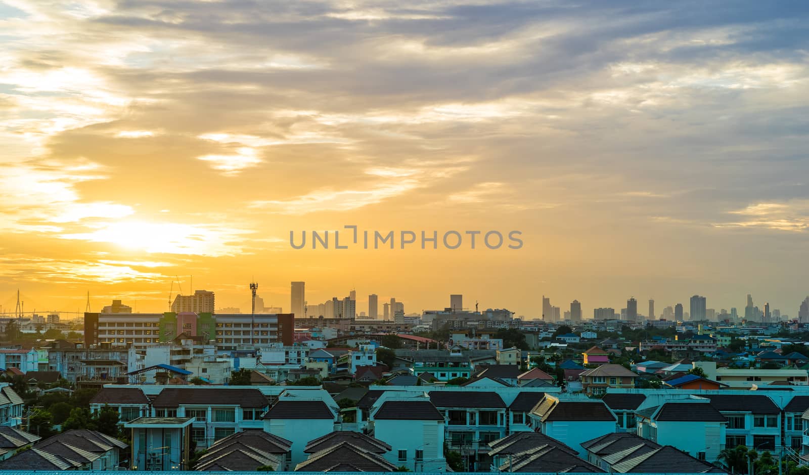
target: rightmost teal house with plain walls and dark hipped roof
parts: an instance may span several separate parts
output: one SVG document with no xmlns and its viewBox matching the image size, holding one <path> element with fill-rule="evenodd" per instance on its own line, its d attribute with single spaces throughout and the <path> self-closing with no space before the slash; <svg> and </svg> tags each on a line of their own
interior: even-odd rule
<svg viewBox="0 0 809 475">
<path fill-rule="evenodd" d="M 644 439 L 677 447 L 699 460 L 717 460 L 725 448 L 727 419 L 705 399 L 669 401 L 636 414 L 637 435 Z"/>
</svg>

